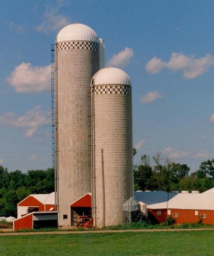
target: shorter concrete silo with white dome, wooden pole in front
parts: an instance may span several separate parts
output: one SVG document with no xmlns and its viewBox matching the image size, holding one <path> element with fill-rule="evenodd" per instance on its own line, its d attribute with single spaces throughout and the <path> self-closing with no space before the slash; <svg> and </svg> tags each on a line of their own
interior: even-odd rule
<svg viewBox="0 0 214 256">
<path fill-rule="evenodd" d="M 108 67 L 93 76 L 91 88 L 94 225 L 118 225 L 133 196 L 132 87 L 124 71 Z"/>
</svg>

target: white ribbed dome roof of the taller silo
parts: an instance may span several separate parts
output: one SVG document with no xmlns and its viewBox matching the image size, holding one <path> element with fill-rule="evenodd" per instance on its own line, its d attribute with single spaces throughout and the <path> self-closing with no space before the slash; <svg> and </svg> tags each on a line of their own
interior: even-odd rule
<svg viewBox="0 0 214 256">
<path fill-rule="evenodd" d="M 56 37 L 56 42 L 70 40 L 99 42 L 95 31 L 91 29 L 91 27 L 80 23 L 74 23 L 65 26 L 63 29 L 60 30 Z"/>
</svg>

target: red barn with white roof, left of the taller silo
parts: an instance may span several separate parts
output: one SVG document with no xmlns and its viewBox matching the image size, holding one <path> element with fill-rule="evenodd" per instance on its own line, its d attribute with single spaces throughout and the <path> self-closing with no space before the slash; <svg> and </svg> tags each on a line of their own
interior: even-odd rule
<svg viewBox="0 0 214 256">
<path fill-rule="evenodd" d="M 29 195 L 17 204 L 17 218 L 31 212 L 44 212 L 56 210 L 54 192 L 50 194 Z"/>
</svg>

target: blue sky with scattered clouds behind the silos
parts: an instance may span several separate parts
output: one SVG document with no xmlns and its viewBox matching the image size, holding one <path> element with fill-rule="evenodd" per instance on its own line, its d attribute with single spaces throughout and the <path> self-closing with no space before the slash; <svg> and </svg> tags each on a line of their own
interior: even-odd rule
<svg viewBox="0 0 214 256">
<path fill-rule="evenodd" d="M 51 163 L 50 49 L 69 23 L 105 42 L 107 65 L 132 81 L 137 155 L 191 171 L 214 157 L 213 1 L 1 1 L 0 164 Z"/>
</svg>

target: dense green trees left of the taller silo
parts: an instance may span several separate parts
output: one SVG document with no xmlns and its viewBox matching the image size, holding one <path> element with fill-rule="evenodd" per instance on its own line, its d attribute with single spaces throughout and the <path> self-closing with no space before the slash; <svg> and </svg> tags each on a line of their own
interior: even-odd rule
<svg viewBox="0 0 214 256">
<path fill-rule="evenodd" d="M 0 166 L 0 216 L 16 217 L 16 206 L 30 194 L 46 194 L 54 191 L 54 170 L 20 170 L 8 172 Z"/>
</svg>

